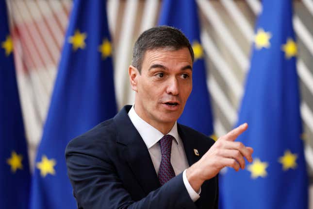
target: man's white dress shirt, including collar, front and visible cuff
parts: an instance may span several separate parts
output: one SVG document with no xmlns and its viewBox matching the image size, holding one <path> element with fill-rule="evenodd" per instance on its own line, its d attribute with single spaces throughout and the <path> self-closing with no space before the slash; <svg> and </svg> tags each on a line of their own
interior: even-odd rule
<svg viewBox="0 0 313 209">
<path fill-rule="evenodd" d="M 134 105 L 132 105 L 131 110 L 128 112 L 128 116 L 132 121 L 132 124 L 137 129 L 138 133 L 140 134 L 141 138 L 144 140 L 150 157 L 152 159 L 152 163 L 155 169 L 155 172 L 159 174 L 159 168 L 161 163 L 161 149 L 160 144 L 157 143 L 164 135 L 150 125 L 148 122 L 145 122 L 141 119 L 137 113 L 135 112 Z M 177 131 L 177 122 L 173 126 L 172 130 L 168 133 L 168 135 L 172 135 L 175 140 L 172 143 L 172 151 L 171 151 L 171 164 L 174 169 L 175 175 L 182 174 L 183 183 L 189 193 L 190 198 L 195 202 L 200 197 L 200 191 L 197 193 L 191 187 L 187 177 L 186 177 L 186 169 L 189 167 L 187 157 L 185 154 L 185 150 L 183 147 L 183 143 L 181 141 L 180 136 L 178 135 Z"/>
</svg>

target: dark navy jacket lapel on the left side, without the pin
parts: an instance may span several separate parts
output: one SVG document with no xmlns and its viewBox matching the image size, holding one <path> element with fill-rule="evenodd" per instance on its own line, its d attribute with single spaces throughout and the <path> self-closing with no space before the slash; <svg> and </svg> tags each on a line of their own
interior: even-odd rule
<svg viewBox="0 0 313 209">
<path fill-rule="evenodd" d="M 117 143 L 124 145 L 125 160 L 141 188 L 148 194 L 161 185 L 147 146 L 127 115 L 130 108 L 130 105 L 125 106 L 114 118 Z"/>
</svg>

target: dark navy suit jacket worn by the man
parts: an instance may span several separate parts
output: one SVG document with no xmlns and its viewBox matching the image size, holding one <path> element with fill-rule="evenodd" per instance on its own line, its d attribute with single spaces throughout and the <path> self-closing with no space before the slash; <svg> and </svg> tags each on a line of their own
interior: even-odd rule
<svg viewBox="0 0 313 209">
<path fill-rule="evenodd" d="M 217 176 L 204 182 L 195 203 L 184 186 L 182 173 L 161 187 L 145 142 L 127 115 L 130 108 L 125 106 L 113 119 L 68 143 L 67 173 L 78 208 L 216 209 Z M 178 133 L 189 165 L 214 143 L 181 124 Z"/>
</svg>

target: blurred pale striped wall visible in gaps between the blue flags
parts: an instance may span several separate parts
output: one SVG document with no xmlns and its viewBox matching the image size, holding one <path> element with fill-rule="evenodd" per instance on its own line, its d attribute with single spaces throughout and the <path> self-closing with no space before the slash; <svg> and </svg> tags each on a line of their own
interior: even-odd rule
<svg viewBox="0 0 313 209">
<path fill-rule="evenodd" d="M 30 166 L 40 143 L 61 58 L 72 0 L 7 0 L 14 42 L 18 90 L 26 130 Z M 259 0 L 198 0 L 200 37 L 207 66 L 214 131 L 222 136 L 237 121 L 244 93 Z M 117 109 L 133 104 L 128 79 L 132 47 L 138 35 L 157 25 L 162 0 L 107 0 L 112 38 Z M 313 180 L 313 0 L 294 0 L 297 73 L 301 93 L 305 158 Z M 310 187 L 313 209 L 313 187 Z"/>
</svg>

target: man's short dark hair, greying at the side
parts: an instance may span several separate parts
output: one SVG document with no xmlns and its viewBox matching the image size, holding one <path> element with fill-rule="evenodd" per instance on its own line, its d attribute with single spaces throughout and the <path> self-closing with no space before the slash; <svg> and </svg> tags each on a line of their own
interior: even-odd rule
<svg viewBox="0 0 313 209">
<path fill-rule="evenodd" d="M 177 28 L 170 26 L 158 26 L 143 32 L 135 42 L 132 51 L 132 66 L 141 72 L 141 65 L 145 52 L 148 50 L 164 48 L 169 51 L 180 50 L 187 47 L 192 62 L 194 62 L 194 51 L 188 38 Z"/>
</svg>

